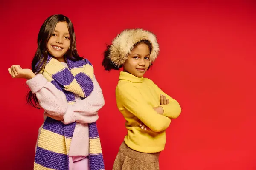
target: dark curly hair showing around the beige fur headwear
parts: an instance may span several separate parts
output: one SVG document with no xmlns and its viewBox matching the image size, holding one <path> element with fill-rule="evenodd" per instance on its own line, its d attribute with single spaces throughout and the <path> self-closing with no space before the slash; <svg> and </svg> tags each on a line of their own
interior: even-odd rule
<svg viewBox="0 0 256 170">
<path fill-rule="evenodd" d="M 140 40 L 139 42 L 137 42 L 136 44 L 134 44 L 133 48 L 135 48 L 137 45 L 139 44 L 145 44 L 148 45 L 149 48 L 149 53 L 151 54 L 152 51 L 152 44 L 150 41 L 148 40 Z M 102 61 L 102 66 L 104 67 L 104 69 L 106 71 L 111 71 L 113 70 L 119 70 L 120 68 L 122 68 L 122 65 L 120 67 L 116 66 L 113 62 L 111 62 L 111 59 L 108 57 L 110 55 L 110 46 L 111 45 L 107 45 L 107 49 L 104 51 L 104 58 Z M 149 65 L 148 69 L 152 66 L 152 63 Z"/>
</svg>

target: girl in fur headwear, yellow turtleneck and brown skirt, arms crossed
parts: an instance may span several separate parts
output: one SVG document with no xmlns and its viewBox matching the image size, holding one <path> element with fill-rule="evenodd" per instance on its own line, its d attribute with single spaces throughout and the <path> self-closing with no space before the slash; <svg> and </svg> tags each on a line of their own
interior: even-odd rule
<svg viewBox="0 0 256 170">
<path fill-rule="evenodd" d="M 159 170 L 159 154 L 166 144 L 165 130 L 171 119 L 180 115 L 179 103 L 143 77 L 158 52 L 154 34 L 128 29 L 104 53 L 105 70 L 123 68 L 116 87 L 116 102 L 128 131 L 113 170 Z"/>
</svg>

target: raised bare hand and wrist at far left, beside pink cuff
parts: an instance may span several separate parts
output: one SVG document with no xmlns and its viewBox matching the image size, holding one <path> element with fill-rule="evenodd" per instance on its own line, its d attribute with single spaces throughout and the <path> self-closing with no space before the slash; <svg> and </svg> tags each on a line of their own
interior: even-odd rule
<svg viewBox="0 0 256 170">
<path fill-rule="evenodd" d="M 11 74 L 12 78 L 23 78 L 23 79 L 32 79 L 35 77 L 35 73 L 28 68 L 21 68 L 20 65 L 12 65 L 8 68 L 9 74 Z"/>
</svg>

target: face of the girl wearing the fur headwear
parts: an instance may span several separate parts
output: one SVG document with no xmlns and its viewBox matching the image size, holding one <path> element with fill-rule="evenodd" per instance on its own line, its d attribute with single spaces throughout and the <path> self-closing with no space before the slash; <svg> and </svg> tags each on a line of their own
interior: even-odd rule
<svg viewBox="0 0 256 170">
<path fill-rule="evenodd" d="M 124 71 L 136 77 L 143 77 L 150 65 L 149 57 L 150 50 L 148 45 L 144 43 L 136 45 L 123 65 Z"/>
</svg>

